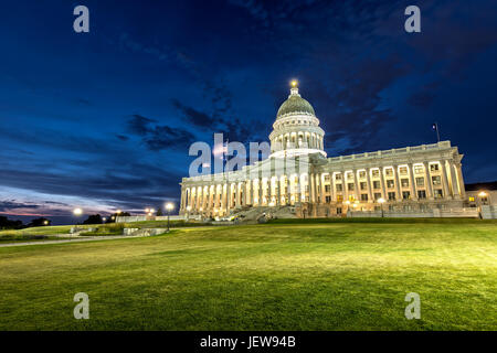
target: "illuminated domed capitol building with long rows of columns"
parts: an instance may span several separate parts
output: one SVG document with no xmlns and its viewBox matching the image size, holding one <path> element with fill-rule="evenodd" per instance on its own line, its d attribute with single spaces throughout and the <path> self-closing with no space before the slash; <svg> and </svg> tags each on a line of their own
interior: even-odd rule
<svg viewBox="0 0 497 353">
<path fill-rule="evenodd" d="M 325 131 L 296 82 L 269 135 L 267 159 L 183 178 L 180 214 L 223 217 L 287 208 L 297 217 L 378 216 L 464 210 L 463 154 L 450 141 L 327 157 Z M 297 168 L 288 168 L 288 160 Z M 272 207 L 272 208 L 271 208 Z M 443 216 L 443 215 L 442 215 Z"/>
</svg>

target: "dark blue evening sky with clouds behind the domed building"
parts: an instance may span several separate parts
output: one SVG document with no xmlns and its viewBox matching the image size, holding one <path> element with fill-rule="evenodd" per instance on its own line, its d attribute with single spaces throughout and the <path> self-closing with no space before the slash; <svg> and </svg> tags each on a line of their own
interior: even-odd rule
<svg viewBox="0 0 497 353">
<path fill-rule="evenodd" d="M 89 9 L 89 33 L 73 9 Z M 416 4 L 422 32 L 404 31 Z M 10 1 L 0 18 L 0 213 L 178 202 L 188 148 L 267 140 L 298 78 L 328 156 L 442 139 L 497 179 L 497 2 Z M 62 222 L 62 221 L 61 221 Z"/>
</svg>

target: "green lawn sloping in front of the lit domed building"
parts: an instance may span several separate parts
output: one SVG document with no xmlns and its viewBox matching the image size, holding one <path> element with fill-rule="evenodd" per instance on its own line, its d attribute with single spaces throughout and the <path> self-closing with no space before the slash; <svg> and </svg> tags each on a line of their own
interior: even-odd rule
<svg viewBox="0 0 497 353">
<path fill-rule="evenodd" d="M 0 248 L 0 330 L 497 330 L 496 222 L 371 221 Z"/>
</svg>

